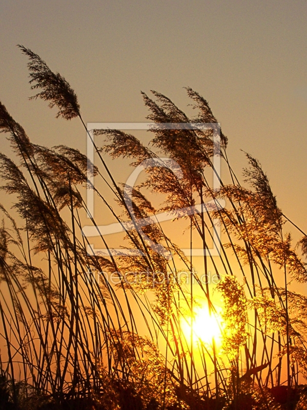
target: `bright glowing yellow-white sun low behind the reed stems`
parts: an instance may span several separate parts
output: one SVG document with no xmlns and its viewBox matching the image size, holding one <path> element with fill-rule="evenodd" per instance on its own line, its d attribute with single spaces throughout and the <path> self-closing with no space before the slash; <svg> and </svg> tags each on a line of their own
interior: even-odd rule
<svg viewBox="0 0 307 410">
<path fill-rule="evenodd" d="M 219 313 L 209 312 L 208 305 L 197 306 L 194 309 L 193 321 L 193 343 L 204 343 L 212 345 L 213 340 L 215 345 L 221 343 L 222 319 Z M 186 337 L 186 340 L 191 338 L 191 316 L 183 318 L 181 321 L 181 330 Z"/>
</svg>

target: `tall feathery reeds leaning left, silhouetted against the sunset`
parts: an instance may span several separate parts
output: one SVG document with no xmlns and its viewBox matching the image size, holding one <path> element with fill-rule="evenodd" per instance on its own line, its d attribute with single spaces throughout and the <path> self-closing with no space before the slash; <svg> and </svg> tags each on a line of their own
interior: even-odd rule
<svg viewBox="0 0 307 410">
<path fill-rule="evenodd" d="M 77 96 L 65 78 L 20 47 L 30 59 L 32 89 L 39 90 L 32 98 L 57 107 L 57 117 L 79 118 L 86 129 Z M 166 96 L 152 93 L 152 98 L 142 96 L 153 125 L 218 127 L 207 101 L 192 89 L 187 93 L 197 112 L 193 118 Z M 249 168 L 240 183 L 222 131 L 216 151 L 210 129 L 153 127 L 149 146 L 119 130 L 95 130 L 94 135 L 104 138 L 103 147 L 92 139 L 99 166 L 90 169 L 100 181 L 98 190 L 88 180 L 86 155 L 65 146 L 50 149 L 33 144 L 2 104 L 0 128 L 16 159 L 0 155 L 2 189 L 14 200 L 11 213 L 1 206 L 3 406 L 305 408 L 307 298 L 294 292 L 290 283 L 307 281 L 307 272 L 285 231 L 285 223 L 292 222 L 278 208 L 269 179 L 255 158 L 247 154 Z M 167 167 L 148 168 L 146 179 L 132 190 L 129 206 L 122 181 L 115 180 L 105 155 L 114 161 L 129 158 L 136 167 L 156 159 L 157 152 L 177 162 L 182 178 Z M 227 182 L 220 179 L 219 190 L 213 189 L 208 177 L 210 170 L 216 172 L 212 161 L 216 152 L 229 172 L 223 177 Z M 139 254 L 116 255 L 101 234 L 99 240 L 109 256 L 89 254 L 89 240 L 81 234 L 89 214 L 85 188 L 94 190 L 114 220 L 132 219 L 134 229 L 127 229 L 119 245 Z M 115 206 L 108 199 L 111 194 Z M 151 194 L 161 198 L 159 209 L 148 199 Z M 192 256 L 187 258 L 175 243 L 175 230 L 167 235 L 158 222 L 138 228 L 137 219 L 160 211 L 178 212 L 210 199 L 213 206 L 208 212 L 185 216 L 191 249 L 193 241 L 210 249 L 216 241 L 214 220 L 223 231 L 223 243 L 215 243 L 219 255 L 207 251 L 202 272 L 195 272 Z M 222 199 L 226 208 L 220 206 Z M 291 229 L 298 227 L 292 224 Z M 306 255 L 305 234 L 298 245 Z M 161 249 L 171 257 L 157 252 Z M 211 270 L 219 278 L 215 294 L 208 280 L 200 280 L 201 275 L 208 279 Z M 188 286 L 178 279 L 182 271 L 189 272 Z M 95 272 L 101 273 L 99 280 Z M 114 272 L 117 285 L 109 280 Z M 223 301 L 221 313 L 216 292 Z M 201 298 L 212 317 L 221 316 L 220 346 L 214 338 L 195 342 L 193 323 Z M 190 334 L 182 330 L 187 321 Z"/>
</svg>

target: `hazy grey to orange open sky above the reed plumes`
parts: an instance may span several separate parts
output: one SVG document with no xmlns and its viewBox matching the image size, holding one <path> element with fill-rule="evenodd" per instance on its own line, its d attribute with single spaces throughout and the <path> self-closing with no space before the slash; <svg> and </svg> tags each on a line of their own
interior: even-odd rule
<svg viewBox="0 0 307 410">
<path fill-rule="evenodd" d="M 185 110 L 183 87 L 192 87 L 228 136 L 237 174 L 240 150 L 258 158 L 280 208 L 307 231 L 306 13 L 307 2 L 294 0 L 1 0 L 0 100 L 36 144 L 85 152 L 78 120 L 28 101 L 17 44 L 65 76 L 85 122 L 145 121 L 140 91 Z"/>
</svg>

